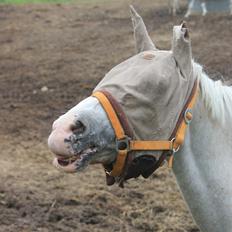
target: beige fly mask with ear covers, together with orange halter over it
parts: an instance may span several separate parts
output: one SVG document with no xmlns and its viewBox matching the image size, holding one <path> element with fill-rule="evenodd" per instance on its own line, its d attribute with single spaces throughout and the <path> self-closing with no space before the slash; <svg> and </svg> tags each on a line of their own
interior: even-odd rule
<svg viewBox="0 0 232 232">
<path fill-rule="evenodd" d="M 108 184 L 113 184 L 115 178 L 122 185 L 124 180 L 140 174 L 148 177 L 167 154 L 182 145 L 198 88 L 186 24 L 174 27 L 171 51 L 158 50 L 142 18 L 133 7 L 131 12 L 139 53 L 114 67 L 93 91 L 116 135 L 118 157 L 105 166 Z M 121 136 L 117 136 L 120 130 Z M 176 136 L 181 137 L 181 142 Z"/>
</svg>

